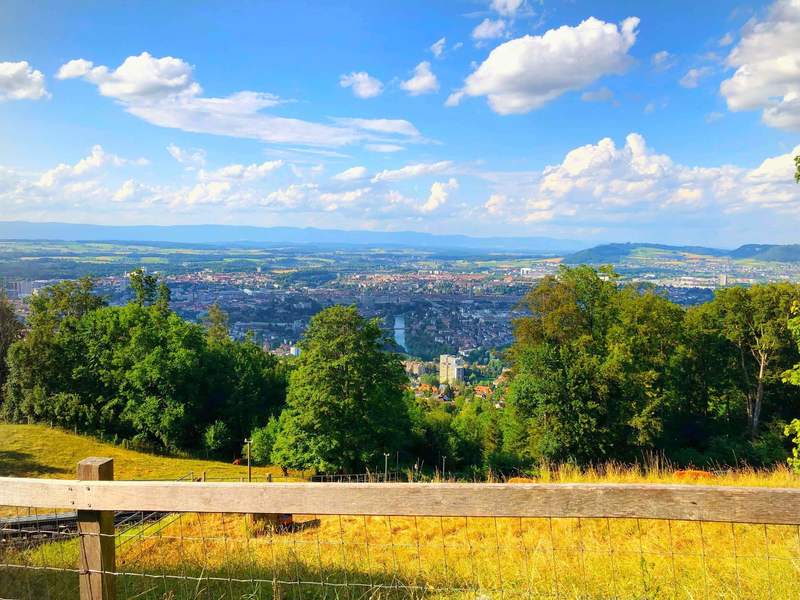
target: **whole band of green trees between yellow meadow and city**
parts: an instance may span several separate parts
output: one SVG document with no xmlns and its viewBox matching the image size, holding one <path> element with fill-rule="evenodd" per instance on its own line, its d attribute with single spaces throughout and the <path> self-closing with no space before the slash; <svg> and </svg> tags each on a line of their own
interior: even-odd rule
<svg viewBox="0 0 800 600">
<path fill-rule="evenodd" d="M 800 438 L 800 286 L 718 290 L 684 309 L 610 268 L 541 279 L 514 323 L 495 397 L 415 397 L 400 356 L 356 308 L 318 313 L 301 354 L 233 341 L 212 306 L 194 324 L 157 277 L 108 306 L 90 279 L 33 296 L 23 326 L 0 299 L 0 416 L 167 452 L 356 472 L 385 454 L 480 474 L 543 463 L 783 462 Z M 794 438 L 792 438 L 794 436 Z M 798 464 L 796 448 L 794 464 Z"/>
</svg>

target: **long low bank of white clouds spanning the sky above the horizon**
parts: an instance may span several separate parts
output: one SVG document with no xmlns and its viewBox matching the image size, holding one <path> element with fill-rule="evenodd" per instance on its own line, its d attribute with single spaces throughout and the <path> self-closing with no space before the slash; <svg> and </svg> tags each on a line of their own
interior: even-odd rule
<svg viewBox="0 0 800 600">
<path fill-rule="evenodd" d="M 135 175 L 147 161 L 95 146 L 74 163 L 40 172 L 0 167 L 0 209 L 7 218 L 51 219 L 116 210 L 138 222 L 148 215 L 163 220 L 239 214 L 257 220 L 266 213 L 291 213 L 312 221 L 322 215 L 340 219 L 329 225 L 363 226 L 369 219 L 393 227 L 424 225 L 438 214 L 461 231 L 524 234 L 546 228 L 551 235 L 574 235 L 591 230 L 609 239 L 656 239 L 667 227 L 678 232 L 673 236 L 697 240 L 711 235 L 713 224 L 717 235 L 735 227 L 742 241 L 752 241 L 765 227 L 780 227 L 780 235 L 792 239 L 800 226 L 800 186 L 793 181 L 797 154 L 800 146 L 754 168 L 683 165 L 631 133 L 622 144 L 603 138 L 526 172 L 482 172 L 466 165 L 456 171 L 450 161 L 439 161 L 385 169 L 372 177 L 357 165 L 325 179 L 318 165 L 293 169 L 297 180 L 292 181 L 282 171 L 283 161 L 273 160 L 201 169 L 188 183 L 153 185 Z M 429 178 L 422 193 L 419 177 Z M 696 231 L 687 234 L 691 226 Z"/>
</svg>

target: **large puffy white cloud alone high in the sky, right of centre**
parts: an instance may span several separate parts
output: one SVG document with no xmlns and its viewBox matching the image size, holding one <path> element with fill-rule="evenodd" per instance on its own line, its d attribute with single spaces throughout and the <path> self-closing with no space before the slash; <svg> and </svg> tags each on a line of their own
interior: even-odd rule
<svg viewBox="0 0 800 600">
<path fill-rule="evenodd" d="M 543 35 L 526 35 L 492 50 L 448 98 L 457 104 L 464 95 L 486 96 L 501 114 L 526 113 L 604 75 L 623 73 L 631 62 L 628 50 L 636 42 L 637 17 L 619 26 L 590 17 L 576 27 L 562 26 Z"/>
</svg>

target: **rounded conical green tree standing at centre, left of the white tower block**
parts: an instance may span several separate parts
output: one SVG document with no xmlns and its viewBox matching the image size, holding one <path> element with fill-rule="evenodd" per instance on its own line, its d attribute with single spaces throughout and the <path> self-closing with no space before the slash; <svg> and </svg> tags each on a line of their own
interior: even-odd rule
<svg viewBox="0 0 800 600">
<path fill-rule="evenodd" d="M 377 319 L 355 307 L 317 313 L 300 342 L 273 460 L 284 468 L 355 471 L 399 449 L 406 383 Z"/>
</svg>

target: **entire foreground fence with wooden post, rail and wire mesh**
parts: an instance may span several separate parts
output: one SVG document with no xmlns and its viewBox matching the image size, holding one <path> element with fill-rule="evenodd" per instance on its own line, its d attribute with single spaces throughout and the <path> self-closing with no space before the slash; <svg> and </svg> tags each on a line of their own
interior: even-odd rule
<svg viewBox="0 0 800 600">
<path fill-rule="evenodd" d="M 81 461 L 78 480 L 0 477 L 0 599 L 794 600 L 798 590 L 800 489 L 130 482 L 113 481 L 102 458 Z"/>
</svg>

